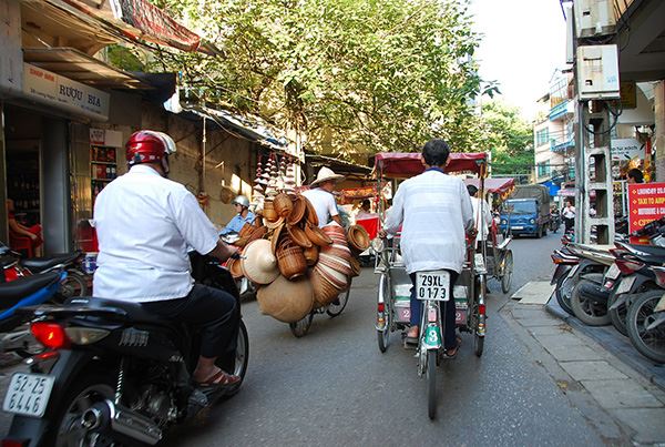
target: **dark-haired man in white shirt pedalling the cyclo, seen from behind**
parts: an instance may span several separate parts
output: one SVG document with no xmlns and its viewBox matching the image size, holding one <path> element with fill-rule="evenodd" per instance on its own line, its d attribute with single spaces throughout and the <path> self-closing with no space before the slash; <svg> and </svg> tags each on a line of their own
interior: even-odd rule
<svg viewBox="0 0 665 447">
<path fill-rule="evenodd" d="M 416 298 L 416 273 L 447 270 L 450 289 L 462 271 L 466 231 L 473 228 L 473 210 L 464 183 L 447 175 L 443 167 L 450 149 L 443 140 L 431 140 L 422 148 L 426 171 L 402 182 L 392 199 L 392 207 L 380 236 L 395 234 L 400 225 L 401 254 L 411 277 L 411 327 L 407 342 L 418 343 L 421 303 Z M 454 299 L 443 302 L 443 347 L 447 357 L 459 348 L 456 337 Z"/>
</svg>

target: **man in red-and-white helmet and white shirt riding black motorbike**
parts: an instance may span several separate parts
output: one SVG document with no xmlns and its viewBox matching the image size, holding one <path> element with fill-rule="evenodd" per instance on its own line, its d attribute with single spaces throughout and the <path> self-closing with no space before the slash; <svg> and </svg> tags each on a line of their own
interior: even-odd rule
<svg viewBox="0 0 665 447">
<path fill-rule="evenodd" d="M 94 204 L 100 243 L 94 295 L 139 302 L 168 319 L 201 328 L 201 357 L 194 380 L 226 386 L 239 377 L 217 366 L 237 338 L 239 308 L 224 292 L 194 284 L 188 247 L 227 260 L 235 248 L 219 240 L 196 197 L 166 179 L 173 140 L 139 131 L 126 143 L 130 171 L 111 182 Z"/>
</svg>

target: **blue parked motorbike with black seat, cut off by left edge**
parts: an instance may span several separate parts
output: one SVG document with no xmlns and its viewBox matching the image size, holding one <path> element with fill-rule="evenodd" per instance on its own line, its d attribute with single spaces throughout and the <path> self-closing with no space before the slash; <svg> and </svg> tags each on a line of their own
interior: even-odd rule
<svg viewBox="0 0 665 447">
<path fill-rule="evenodd" d="M 51 299 L 64 276 L 66 272 L 57 271 L 0 284 L 0 352 L 14 352 L 21 357 L 30 357 L 42 351 L 41 347 L 34 349 L 34 337 L 24 325 L 31 314 L 18 311 Z"/>
</svg>

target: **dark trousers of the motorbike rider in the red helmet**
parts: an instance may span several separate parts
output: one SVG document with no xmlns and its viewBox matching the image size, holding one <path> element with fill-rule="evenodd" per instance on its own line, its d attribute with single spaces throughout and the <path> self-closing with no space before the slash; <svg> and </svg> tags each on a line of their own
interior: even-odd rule
<svg viewBox="0 0 665 447">
<path fill-rule="evenodd" d="M 194 284 L 184 298 L 144 303 L 143 307 L 200 332 L 204 357 L 219 357 L 235 351 L 241 313 L 236 299 L 224 291 Z"/>
</svg>

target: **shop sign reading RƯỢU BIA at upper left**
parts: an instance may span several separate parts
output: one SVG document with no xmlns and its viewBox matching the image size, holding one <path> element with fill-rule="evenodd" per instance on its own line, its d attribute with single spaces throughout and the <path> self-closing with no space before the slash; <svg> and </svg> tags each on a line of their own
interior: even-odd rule
<svg viewBox="0 0 665 447">
<path fill-rule="evenodd" d="M 23 92 L 41 102 L 96 121 L 109 119 L 109 93 L 25 62 Z"/>
</svg>

